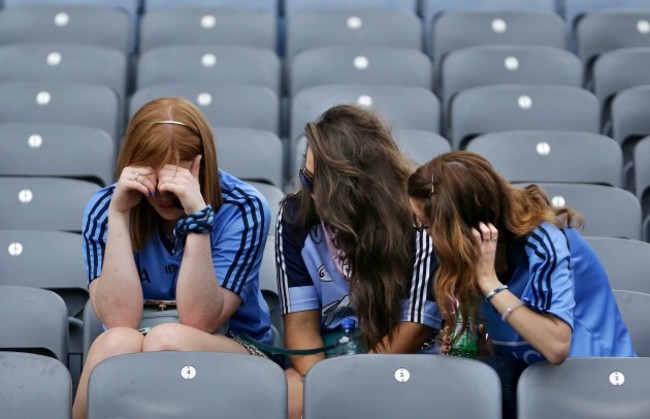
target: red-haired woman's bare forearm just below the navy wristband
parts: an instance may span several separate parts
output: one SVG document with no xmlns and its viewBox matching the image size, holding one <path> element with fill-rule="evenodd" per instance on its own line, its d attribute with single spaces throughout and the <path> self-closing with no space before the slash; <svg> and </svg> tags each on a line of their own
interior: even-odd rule
<svg viewBox="0 0 650 419">
<path fill-rule="evenodd" d="M 176 284 L 181 323 L 212 333 L 227 319 L 222 316 L 223 289 L 212 263 L 209 234 L 188 234 Z"/>
</svg>

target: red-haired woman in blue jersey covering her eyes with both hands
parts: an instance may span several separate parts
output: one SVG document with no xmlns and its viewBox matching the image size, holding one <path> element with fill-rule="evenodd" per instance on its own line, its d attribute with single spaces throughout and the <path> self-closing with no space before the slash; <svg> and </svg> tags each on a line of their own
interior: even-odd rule
<svg viewBox="0 0 650 419">
<path fill-rule="evenodd" d="M 89 375 L 108 357 L 159 350 L 263 356 L 238 336 L 271 341 L 259 289 L 268 204 L 217 168 L 199 109 L 178 97 L 142 106 L 129 124 L 117 173 L 115 184 L 91 198 L 83 220 L 90 301 L 106 331 L 90 349 L 75 418 L 86 416 Z M 138 330 L 146 300 L 173 300 L 178 322 Z"/>
</svg>

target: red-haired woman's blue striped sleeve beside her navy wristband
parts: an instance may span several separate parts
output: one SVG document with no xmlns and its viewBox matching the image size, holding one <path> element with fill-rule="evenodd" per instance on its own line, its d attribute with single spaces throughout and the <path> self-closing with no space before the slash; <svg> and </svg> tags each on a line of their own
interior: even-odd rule
<svg viewBox="0 0 650 419">
<path fill-rule="evenodd" d="M 259 281 L 270 210 L 261 195 L 239 187 L 224 194 L 222 210 L 229 218 L 219 236 L 213 237 L 213 263 L 221 286 L 243 298 L 242 288 Z"/>
</svg>

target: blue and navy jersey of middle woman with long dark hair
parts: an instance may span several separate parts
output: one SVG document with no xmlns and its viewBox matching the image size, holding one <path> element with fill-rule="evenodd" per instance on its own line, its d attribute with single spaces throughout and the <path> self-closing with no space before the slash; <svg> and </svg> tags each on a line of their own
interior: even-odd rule
<svg viewBox="0 0 650 419">
<path fill-rule="evenodd" d="M 356 319 L 348 282 L 330 256 L 321 224 L 301 232 L 285 222 L 283 211 L 292 211 L 291 206 L 289 202 L 281 206 L 275 234 L 282 313 L 319 310 L 321 330 L 336 329 L 344 318 Z M 401 321 L 440 329 L 440 314 L 430 286 L 436 267 L 433 242 L 424 231 L 418 230 L 415 236 L 413 272 L 408 298 L 402 301 Z"/>
</svg>

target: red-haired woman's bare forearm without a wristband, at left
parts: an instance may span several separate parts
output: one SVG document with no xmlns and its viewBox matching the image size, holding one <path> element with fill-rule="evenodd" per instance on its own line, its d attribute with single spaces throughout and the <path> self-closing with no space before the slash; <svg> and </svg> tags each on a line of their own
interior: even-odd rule
<svg viewBox="0 0 650 419">
<path fill-rule="evenodd" d="M 142 286 L 133 259 L 128 213 L 109 213 L 102 274 L 93 281 L 92 302 L 107 327 L 137 327 L 142 317 Z"/>
</svg>

